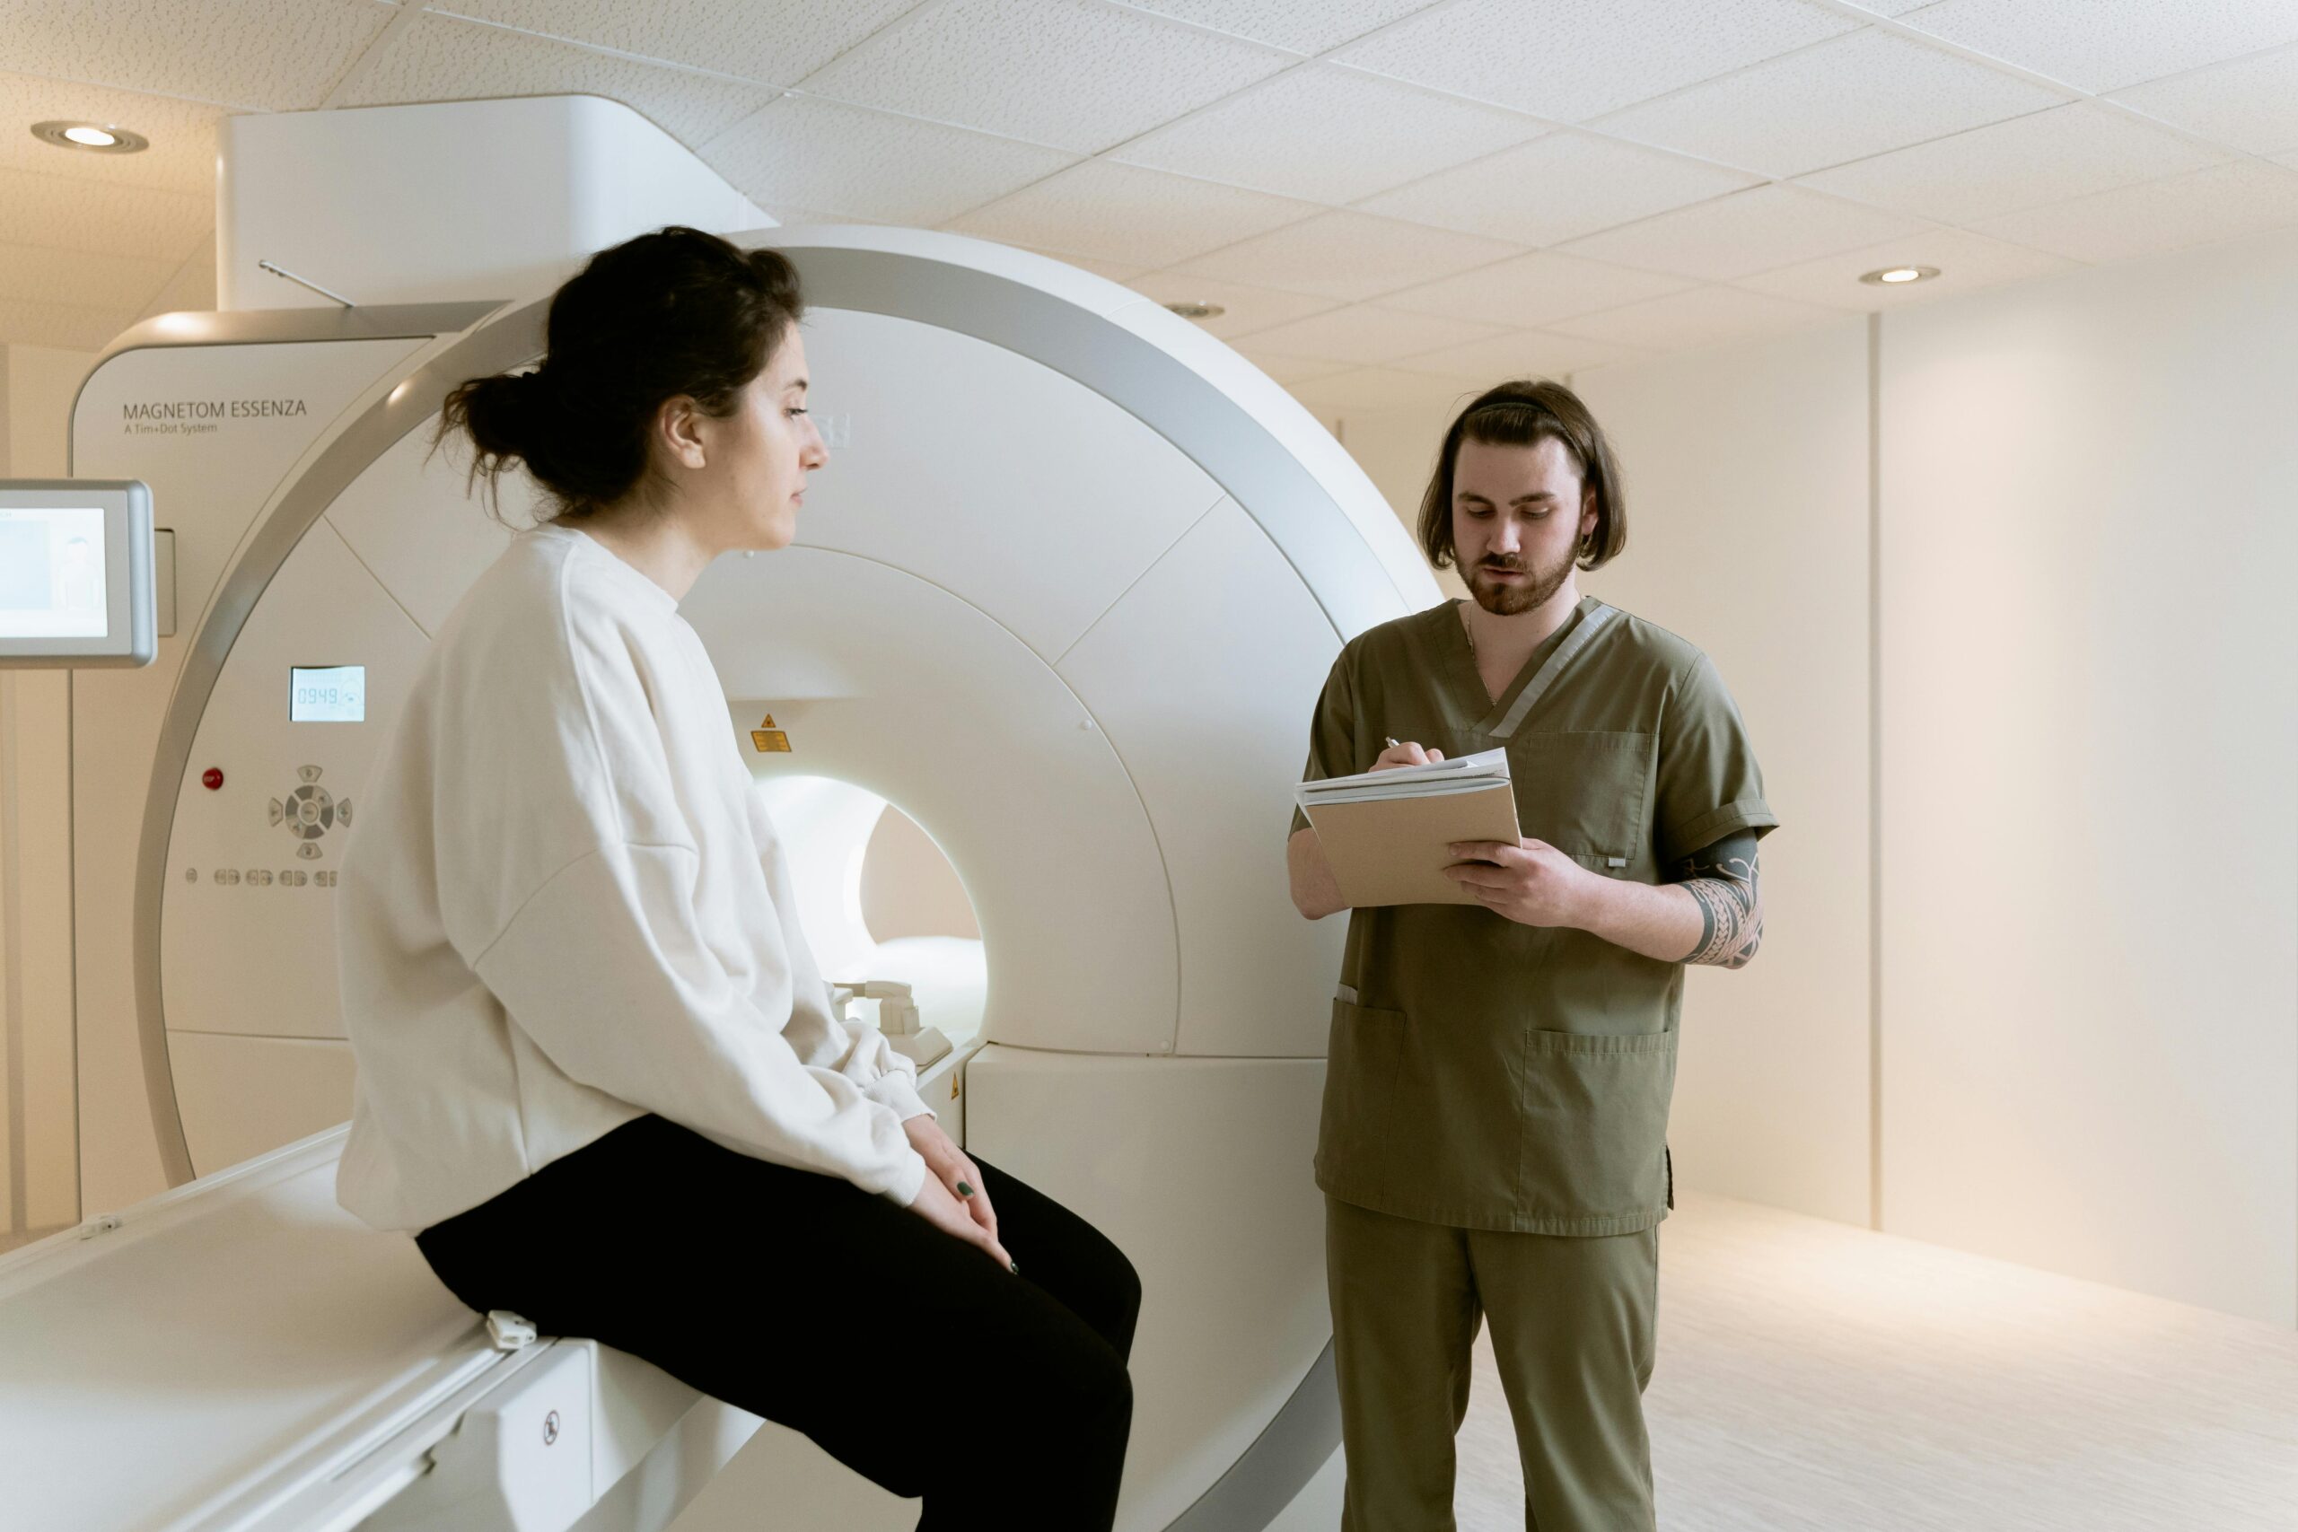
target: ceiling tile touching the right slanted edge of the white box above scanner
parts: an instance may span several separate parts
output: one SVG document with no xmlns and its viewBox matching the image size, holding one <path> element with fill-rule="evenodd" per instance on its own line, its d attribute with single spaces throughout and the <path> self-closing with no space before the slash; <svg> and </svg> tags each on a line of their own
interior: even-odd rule
<svg viewBox="0 0 2298 1532">
<path fill-rule="evenodd" d="M 885 223 L 942 223 L 1073 161 L 1062 149 L 784 96 L 701 149 L 742 195 L 777 207 L 853 211 Z"/>
</svg>

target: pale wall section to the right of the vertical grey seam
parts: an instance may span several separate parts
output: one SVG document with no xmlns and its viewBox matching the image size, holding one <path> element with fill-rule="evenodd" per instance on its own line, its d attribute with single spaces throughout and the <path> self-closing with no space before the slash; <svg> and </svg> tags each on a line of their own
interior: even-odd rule
<svg viewBox="0 0 2298 1532">
<path fill-rule="evenodd" d="M 2298 1323 L 2298 234 L 1880 377 L 1884 1227 Z"/>
</svg>

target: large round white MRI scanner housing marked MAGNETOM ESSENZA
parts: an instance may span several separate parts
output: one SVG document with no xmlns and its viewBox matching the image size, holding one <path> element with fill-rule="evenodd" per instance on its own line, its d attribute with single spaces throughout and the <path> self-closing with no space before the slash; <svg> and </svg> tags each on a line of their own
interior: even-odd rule
<svg viewBox="0 0 2298 1532">
<path fill-rule="evenodd" d="M 1294 914 L 1282 822 L 1342 639 L 1434 581 L 1289 395 L 1140 294 L 949 234 L 747 239 L 804 278 L 834 462 L 795 547 L 719 560 L 683 606 L 728 728 L 761 781 L 901 806 L 965 884 L 986 1011 L 933 1100 L 963 1080 L 967 1146 L 1144 1279 L 1119 1525 L 1266 1525 L 1335 1447 L 1308 1160 L 1340 926 Z M 439 402 L 535 361 L 542 308 L 163 317 L 83 390 L 76 473 L 154 485 L 200 613 L 76 696 L 80 804 L 106 806 L 76 831 L 83 1034 L 110 1022 L 83 1096 L 147 1093 L 170 1183 L 347 1114 L 331 900 L 285 877 L 331 871 L 340 825 L 299 838 L 269 804 L 313 786 L 356 815 L 430 632 L 508 535 L 430 452 Z M 308 418 L 221 452 L 122 432 L 154 397 Z M 365 721 L 290 724 L 290 668 L 336 664 L 365 666 Z M 788 756 L 749 749 L 765 712 Z M 205 1472 L 253 1472 L 232 1454 Z"/>
</svg>

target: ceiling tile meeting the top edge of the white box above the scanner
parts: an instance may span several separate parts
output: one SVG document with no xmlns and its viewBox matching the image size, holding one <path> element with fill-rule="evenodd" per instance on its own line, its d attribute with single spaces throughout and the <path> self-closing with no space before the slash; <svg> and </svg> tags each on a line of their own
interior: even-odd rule
<svg viewBox="0 0 2298 1532">
<path fill-rule="evenodd" d="M 476 21 L 418 16 L 340 106 L 570 92 L 620 101 L 687 145 L 710 140 L 774 99 L 765 85 L 643 64 Z"/>
</svg>

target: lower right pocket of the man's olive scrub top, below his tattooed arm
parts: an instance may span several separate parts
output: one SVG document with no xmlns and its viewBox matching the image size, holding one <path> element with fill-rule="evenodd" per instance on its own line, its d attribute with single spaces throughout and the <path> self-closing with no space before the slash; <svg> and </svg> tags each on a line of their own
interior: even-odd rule
<svg viewBox="0 0 2298 1532">
<path fill-rule="evenodd" d="M 1519 1217 L 1576 1224 L 1576 1233 L 1659 1222 L 1668 1201 L 1675 1038 L 1524 1034 Z"/>
</svg>

